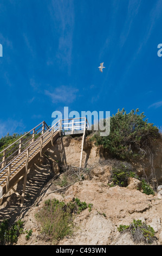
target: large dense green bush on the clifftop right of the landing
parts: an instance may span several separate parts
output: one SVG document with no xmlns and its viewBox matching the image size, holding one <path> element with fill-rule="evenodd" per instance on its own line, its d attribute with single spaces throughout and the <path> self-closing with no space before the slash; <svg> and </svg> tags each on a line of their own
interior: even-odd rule
<svg viewBox="0 0 162 256">
<path fill-rule="evenodd" d="M 159 130 L 153 124 L 147 123 L 144 113 L 139 109 L 126 113 L 125 109 L 110 118 L 110 133 L 100 136 L 96 132 L 92 138 L 96 145 L 102 145 L 113 156 L 122 160 L 137 160 L 144 157 L 146 150 L 152 147 L 152 142 L 160 136 Z"/>
</svg>

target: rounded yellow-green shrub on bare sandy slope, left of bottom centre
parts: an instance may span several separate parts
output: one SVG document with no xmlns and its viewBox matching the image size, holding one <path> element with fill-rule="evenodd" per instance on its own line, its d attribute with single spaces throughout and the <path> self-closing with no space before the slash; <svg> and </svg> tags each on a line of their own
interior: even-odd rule
<svg viewBox="0 0 162 256">
<path fill-rule="evenodd" d="M 37 212 L 36 219 L 41 224 L 41 233 L 46 239 L 51 240 L 54 244 L 64 236 L 73 232 L 73 215 L 89 208 L 86 202 L 74 198 L 73 202 L 65 204 L 57 199 L 46 200 L 44 207 Z"/>
</svg>

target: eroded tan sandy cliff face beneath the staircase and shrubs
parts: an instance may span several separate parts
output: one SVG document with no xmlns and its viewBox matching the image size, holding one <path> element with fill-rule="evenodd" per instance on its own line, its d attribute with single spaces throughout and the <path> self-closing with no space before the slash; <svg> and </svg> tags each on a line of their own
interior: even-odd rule
<svg viewBox="0 0 162 256">
<path fill-rule="evenodd" d="M 158 237 L 158 245 L 162 245 L 161 206 L 162 201 L 158 193 L 154 196 L 146 195 L 138 190 L 137 180 L 129 179 L 127 187 L 110 187 L 112 168 L 118 164 L 118 160 L 110 159 L 101 147 L 96 147 L 86 139 L 82 167 L 91 170 L 85 179 L 72 182 L 64 190 L 57 182 L 62 179 L 63 169 L 67 166 L 78 167 L 81 153 L 81 137 L 72 138 L 66 136 L 57 139 L 54 146 L 47 150 L 40 162 L 37 162 L 28 175 L 28 195 L 24 208 L 15 212 L 20 205 L 14 194 L 10 194 L 0 208 L 0 216 L 10 212 L 12 220 L 24 221 L 24 228 L 33 230 L 30 239 L 25 240 L 22 234 L 18 245 L 48 245 L 40 236 L 40 225 L 36 222 L 35 214 L 42 209 L 44 200 L 57 198 L 67 203 L 73 198 L 79 198 L 82 202 L 93 204 L 92 210 L 81 212 L 74 219 L 76 230 L 74 234 L 59 241 L 59 245 L 134 245 L 128 233 L 120 234 L 119 225 L 129 225 L 133 219 L 146 222 L 151 225 Z M 158 185 L 161 181 L 160 147 L 162 143 L 154 145 L 153 162 L 148 158 L 145 172 L 151 177 L 152 168 Z M 127 166 L 129 163 L 126 163 Z M 135 166 L 133 167 L 135 168 Z M 138 165 L 138 172 L 142 173 L 142 165 Z M 51 179 L 53 176 L 55 178 Z M 154 176 L 153 176 L 154 178 Z M 74 181 L 74 180 L 73 180 Z M 69 180 L 70 182 L 70 180 Z M 70 183 L 69 183 L 70 184 Z M 21 189 L 22 184 L 18 184 Z M 35 207 L 37 206 L 37 207 Z M 15 207 L 15 208 L 14 208 Z M 16 208 L 17 207 L 17 208 Z M 13 209 L 12 212 L 10 209 Z"/>
</svg>

